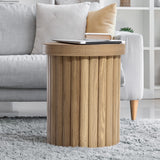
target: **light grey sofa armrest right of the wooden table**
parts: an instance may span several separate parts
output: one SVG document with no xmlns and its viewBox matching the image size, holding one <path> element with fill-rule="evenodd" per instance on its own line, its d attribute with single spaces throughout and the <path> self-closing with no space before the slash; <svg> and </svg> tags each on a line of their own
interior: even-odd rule
<svg viewBox="0 0 160 160">
<path fill-rule="evenodd" d="M 121 87 L 121 99 L 142 99 L 144 90 L 143 37 L 136 33 L 117 32 L 115 39 L 126 42 L 125 55 L 121 58 L 126 84 Z"/>
</svg>

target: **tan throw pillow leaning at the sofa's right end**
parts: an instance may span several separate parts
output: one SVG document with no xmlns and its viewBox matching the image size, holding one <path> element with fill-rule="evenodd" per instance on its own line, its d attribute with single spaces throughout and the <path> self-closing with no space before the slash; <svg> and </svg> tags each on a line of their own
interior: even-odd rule
<svg viewBox="0 0 160 160">
<path fill-rule="evenodd" d="M 116 4 L 88 13 L 87 33 L 110 33 L 114 35 L 116 24 Z"/>
</svg>

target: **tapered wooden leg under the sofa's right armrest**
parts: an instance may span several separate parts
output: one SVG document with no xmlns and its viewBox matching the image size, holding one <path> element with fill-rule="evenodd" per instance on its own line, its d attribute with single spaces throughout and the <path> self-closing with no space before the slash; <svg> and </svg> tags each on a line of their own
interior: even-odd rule
<svg viewBox="0 0 160 160">
<path fill-rule="evenodd" d="M 130 101 L 130 108 L 131 108 L 131 118 L 132 118 L 132 120 L 136 120 L 137 109 L 138 109 L 138 100 L 131 100 Z"/>
</svg>

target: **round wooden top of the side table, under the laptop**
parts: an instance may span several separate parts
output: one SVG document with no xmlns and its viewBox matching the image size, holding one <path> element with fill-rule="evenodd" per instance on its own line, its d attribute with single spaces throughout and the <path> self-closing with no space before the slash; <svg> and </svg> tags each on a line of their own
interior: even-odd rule
<svg viewBox="0 0 160 160">
<path fill-rule="evenodd" d="M 125 54 L 125 44 L 79 45 L 51 42 L 44 44 L 43 53 L 51 56 L 116 56 Z"/>
</svg>

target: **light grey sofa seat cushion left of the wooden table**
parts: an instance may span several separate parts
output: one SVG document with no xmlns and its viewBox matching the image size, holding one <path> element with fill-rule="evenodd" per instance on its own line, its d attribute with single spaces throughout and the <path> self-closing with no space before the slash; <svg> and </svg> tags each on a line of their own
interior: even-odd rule
<svg viewBox="0 0 160 160">
<path fill-rule="evenodd" d="M 0 56 L 0 88 L 46 88 L 46 55 Z"/>
</svg>

